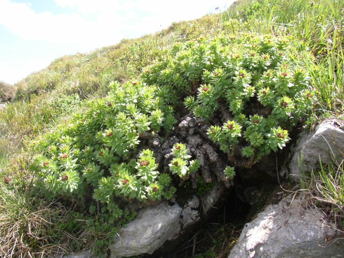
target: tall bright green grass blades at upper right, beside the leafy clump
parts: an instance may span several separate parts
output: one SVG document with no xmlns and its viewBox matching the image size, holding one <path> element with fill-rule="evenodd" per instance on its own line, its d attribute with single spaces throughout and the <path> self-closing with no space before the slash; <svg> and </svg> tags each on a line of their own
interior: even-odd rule
<svg viewBox="0 0 344 258">
<path fill-rule="evenodd" d="M 344 1 L 262 0 L 243 1 L 224 13 L 239 19 L 247 30 L 264 34 L 290 34 L 304 41 L 317 62 L 309 66 L 318 104 L 315 111 L 342 113 Z"/>
</svg>

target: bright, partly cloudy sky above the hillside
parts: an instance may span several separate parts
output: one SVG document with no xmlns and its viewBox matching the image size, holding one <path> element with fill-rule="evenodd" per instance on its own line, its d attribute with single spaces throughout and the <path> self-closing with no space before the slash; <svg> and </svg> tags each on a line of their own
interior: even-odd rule
<svg viewBox="0 0 344 258">
<path fill-rule="evenodd" d="M 58 57 L 154 33 L 172 22 L 223 11 L 233 2 L 0 0 L 0 80 L 15 83 Z"/>
</svg>

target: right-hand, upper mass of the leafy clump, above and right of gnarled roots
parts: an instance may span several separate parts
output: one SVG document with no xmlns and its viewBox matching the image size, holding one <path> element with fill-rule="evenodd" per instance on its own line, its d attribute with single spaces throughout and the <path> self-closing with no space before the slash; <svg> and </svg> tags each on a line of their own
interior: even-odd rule
<svg viewBox="0 0 344 258">
<path fill-rule="evenodd" d="M 312 106 L 305 61 L 311 55 L 292 37 L 223 36 L 175 46 L 143 78 L 173 85 L 184 106 L 208 121 L 221 151 L 231 155 L 241 143 L 242 155 L 256 162 L 282 149 Z M 220 109 L 230 118 L 214 124 Z"/>
</svg>

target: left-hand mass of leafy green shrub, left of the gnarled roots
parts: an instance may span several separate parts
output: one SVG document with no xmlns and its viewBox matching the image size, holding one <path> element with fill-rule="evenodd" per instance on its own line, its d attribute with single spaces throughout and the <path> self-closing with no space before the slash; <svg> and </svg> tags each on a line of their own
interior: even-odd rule
<svg viewBox="0 0 344 258">
<path fill-rule="evenodd" d="M 89 102 L 85 113 L 37 143 L 41 155 L 32 169 L 51 192 L 80 200 L 81 206 L 92 194 L 121 214 L 119 198 L 147 203 L 172 197 L 170 177 L 157 171 L 151 150 L 138 147 L 143 135 L 167 134 L 176 120 L 158 87 L 135 81 L 110 88 L 107 98 Z"/>
</svg>

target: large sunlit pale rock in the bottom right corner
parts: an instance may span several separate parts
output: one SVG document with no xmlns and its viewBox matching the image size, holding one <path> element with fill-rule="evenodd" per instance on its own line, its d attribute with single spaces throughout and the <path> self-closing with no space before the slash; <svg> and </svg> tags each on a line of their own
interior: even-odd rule
<svg viewBox="0 0 344 258">
<path fill-rule="evenodd" d="M 342 257 L 344 239 L 333 241 L 337 236 L 335 225 L 304 197 L 289 197 L 247 223 L 228 258 Z"/>
</svg>

